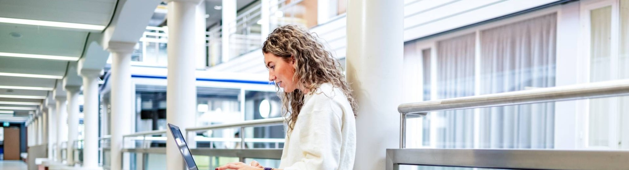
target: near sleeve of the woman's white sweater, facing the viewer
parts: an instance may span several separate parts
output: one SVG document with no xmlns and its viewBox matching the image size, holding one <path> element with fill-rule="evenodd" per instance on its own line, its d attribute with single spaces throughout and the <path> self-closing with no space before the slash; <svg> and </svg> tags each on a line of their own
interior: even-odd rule
<svg viewBox="0 0 629 170">
<path fill-rule="evenodd" d="M 329 103 L 326 103 L 329 104 Z M 301 143 L 299 151 L 303 159 L 284 170 L 330 170 L 338 169 L 342 144 L 342 120 L 335 111 L 338 105 L 324 105 L 315 110 L 299 113 L 296 128 Z M 328 109 L 329 108 L 329 109 Z"/>
</svg>

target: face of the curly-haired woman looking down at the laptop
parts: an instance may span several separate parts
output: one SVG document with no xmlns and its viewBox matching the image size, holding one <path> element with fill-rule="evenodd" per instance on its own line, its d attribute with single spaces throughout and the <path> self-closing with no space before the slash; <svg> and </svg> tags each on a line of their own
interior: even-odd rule
<svg viewBox="0 0 629 170">
<path fill-rule="evenodd" d="M 284 60 L 277 55 L 267 52 L 264 54 L 264 64 L 269 69 L 269 81 L 275 81 L 284 92 L 291 93 L 296 89 L 292 76 L 295 75 L 295 60 Z"/>
</svg>

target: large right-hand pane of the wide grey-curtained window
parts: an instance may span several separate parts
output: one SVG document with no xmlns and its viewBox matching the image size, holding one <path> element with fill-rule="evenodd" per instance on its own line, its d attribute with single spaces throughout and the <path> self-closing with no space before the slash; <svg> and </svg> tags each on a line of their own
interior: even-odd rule
<svg viewBox="0 0 629 170">
<path fill-rule="evenodd" d="M 555 25 L 549 14 L 481 31 L 481 94 L 555 86 Z M 481 148 L 552 148 L 554 103 L 482 108 Z"/>
</svg>

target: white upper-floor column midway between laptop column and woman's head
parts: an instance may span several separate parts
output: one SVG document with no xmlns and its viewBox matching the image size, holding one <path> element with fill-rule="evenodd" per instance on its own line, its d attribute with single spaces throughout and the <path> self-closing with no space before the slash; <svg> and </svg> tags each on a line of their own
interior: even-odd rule
<svg viewBox="0 0 629 170">
<path fill-rule="evenodd" d="M 236 12 L 237 6 L 235 0 L 223 0 L 223 9 L 221 9 L 221 13 L 223 14 L 221 20 L 221 33 L 223 34 L 221 38 L 221 60 L 223 62 L 227 62 L 231 59 L 231 56 L 234 55 L 230 50 L 230 35 L 236 31 Z"/>
</svg>

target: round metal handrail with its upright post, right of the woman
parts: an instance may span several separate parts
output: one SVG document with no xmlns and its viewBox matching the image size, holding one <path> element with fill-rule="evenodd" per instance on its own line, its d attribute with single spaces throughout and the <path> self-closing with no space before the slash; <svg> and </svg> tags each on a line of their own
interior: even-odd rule
<svg viewBox="0 0 629 170">
<path fill-rule="evenodd" d="M 626 95 L 629 95 L 629 79 L 405 103 L 398 106 L 398 111 L 401 113 L 400 148 L 406 147 L 406 118 L 425 116 L 430 111 L 523 105 Z"/>
</svg>

